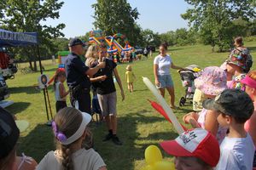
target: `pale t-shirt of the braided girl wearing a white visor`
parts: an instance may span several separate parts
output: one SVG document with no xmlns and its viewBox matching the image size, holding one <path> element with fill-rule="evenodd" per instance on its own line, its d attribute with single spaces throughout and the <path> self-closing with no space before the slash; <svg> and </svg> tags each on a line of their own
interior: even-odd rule
<svg viewBox="0 0 256 170">
<path fill-rule="evenodd" d="M 61 169 L 60 150 L 49 151 L 43 160 L 38 164 L 37 170 L 56 170 Z M 98 170 L 105 167 L 106 164 L 102 157 L 93 149 L 77 150 L 72 155 L 73 166 L 75 170 Z"/>
</svg>

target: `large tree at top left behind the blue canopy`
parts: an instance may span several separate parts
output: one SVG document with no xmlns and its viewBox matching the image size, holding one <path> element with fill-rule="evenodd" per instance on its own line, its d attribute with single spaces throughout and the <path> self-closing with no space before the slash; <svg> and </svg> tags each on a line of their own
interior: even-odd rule
<svg viewBox="0 0 256 170">
<path fill-rule="evenodd" d="M 9 31 L 37 31 L 40 49 L 44 54 L 47 54 L 46 52 L 54 50 L 54 44 L 50 40 L 64 36 L 61 30 L 65 25 L 46 26 L 42 21 L 49 18 L 58 19 L 60 16 L 59 9 L 62 5 L 63 2 L 59 3 L 58 0 L 6 0 L 0 25 Z M 31 69 L 37 71 L 35 48 L 20 48 L 15 49 L 15 51 L 20 53 L 20 56 L 27 56 Z"/>
</svg>

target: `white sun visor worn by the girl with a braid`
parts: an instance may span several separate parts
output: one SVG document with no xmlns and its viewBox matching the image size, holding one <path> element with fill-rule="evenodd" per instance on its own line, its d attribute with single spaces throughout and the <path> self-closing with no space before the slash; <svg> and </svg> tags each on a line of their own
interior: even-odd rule
<svg viewBox="0 0 256 170">
<path fill-rule="evenodd" d="M 58 131 L 57 125 L 54 121 L 51 123 L 55 137 L 61 144 L 66 144 L 66 145 L 72 144 L 74 141 L 76 141 L 83 135 L 85 128 L 91 121 L 91 116 L 90 116 L 90 114 L 88 114 L 86 112 L 80 111 L 80 113 L 83 117 L 83 120 L 82 120 L 78 130 L 75 133 L 73 133 L 73 135 L 70 136 L 69 138 L 67 138 L 64 133 Z"/>
</svg>

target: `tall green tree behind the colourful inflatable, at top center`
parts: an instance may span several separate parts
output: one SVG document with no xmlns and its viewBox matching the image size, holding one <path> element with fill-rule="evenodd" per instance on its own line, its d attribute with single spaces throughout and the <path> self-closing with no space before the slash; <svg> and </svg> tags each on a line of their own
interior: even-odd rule
<svg viewBox="0 0 256 170">
<path fill-rule="evenodd" d="M 135 23 L 139 13 L 137 8 L 131 8 L 126 0 L 97 0 L 97 3 L 92 4 L 92 8 L 95 9 L 96 29 L 101 29 L 106 36 L 124 34 L 131 45 L 139 42 L 140 29 Z"/>
</svg>

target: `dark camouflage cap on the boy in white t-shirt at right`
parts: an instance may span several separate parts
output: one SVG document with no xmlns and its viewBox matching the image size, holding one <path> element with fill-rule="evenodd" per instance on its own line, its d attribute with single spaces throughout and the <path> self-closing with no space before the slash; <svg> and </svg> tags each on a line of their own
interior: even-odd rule
<svg viewBox="0 0 256 170">
<path fill-rule="evenodd" d="M 253 100 L 241 89 L 225 89 L 215 99 L 203 101 L 203 107 L 212 111 L 220 111 L 225 115 L 247 118 L 253 114 Z"/>
</svg>

